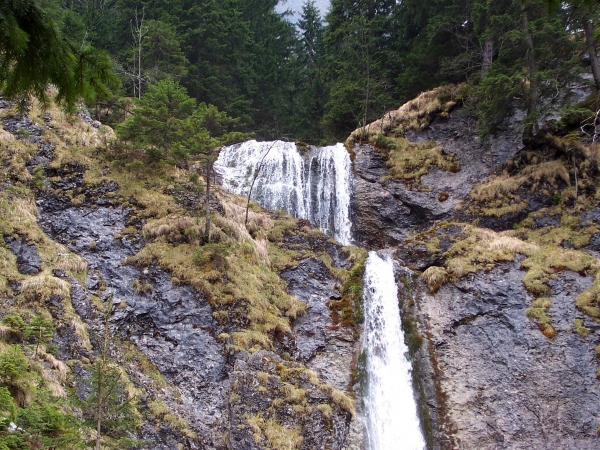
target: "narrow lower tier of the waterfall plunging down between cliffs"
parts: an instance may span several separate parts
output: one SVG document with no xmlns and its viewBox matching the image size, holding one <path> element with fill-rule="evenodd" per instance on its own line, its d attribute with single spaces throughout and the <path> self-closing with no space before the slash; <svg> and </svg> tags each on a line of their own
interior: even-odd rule
<svg viewBox="0 0 600 450">
<path fill-rule="evenodd" d="M 393 262 L 370 252 L 364 276 L 368 450 L 422 450 Z"/>
</svg>

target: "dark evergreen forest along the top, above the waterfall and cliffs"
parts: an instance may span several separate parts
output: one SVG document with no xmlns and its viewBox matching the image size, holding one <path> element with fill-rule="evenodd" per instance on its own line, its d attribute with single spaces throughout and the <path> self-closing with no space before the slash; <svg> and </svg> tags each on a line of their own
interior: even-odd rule
<svg viewBox="0 0 600 450">
<path fill-rule="evenodd" d="M 344 139 L 444 83 L 467 82 L 493 132 L 510 111 L 534 126 L 596 57 L 596 2 L 333 0 L 292 24 L 277 0 L 39 0 L 74 47 L 107 51 L 119 77 L 91 105 L 105 123 L 165 79 L 258 138 Z"/>
</svg>

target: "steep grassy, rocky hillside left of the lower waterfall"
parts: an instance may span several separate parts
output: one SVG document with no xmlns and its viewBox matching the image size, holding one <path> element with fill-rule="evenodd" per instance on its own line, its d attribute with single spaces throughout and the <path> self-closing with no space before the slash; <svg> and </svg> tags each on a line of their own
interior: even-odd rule
<svg viewBox="0 0 600 450">
<path fill-rule="evenodd" d="M 221 191 L 207 243 L 196 174 L 148 164 L 85 113 L 1 107 L 0 359 L 21 369 L 0 378 L 18 427 L 0 442 L 92 444 L 96 411 L 106 448 L 360 441 L 364 252 L 255 204 L 244 226 L 244 199 Z"/>
</svg>

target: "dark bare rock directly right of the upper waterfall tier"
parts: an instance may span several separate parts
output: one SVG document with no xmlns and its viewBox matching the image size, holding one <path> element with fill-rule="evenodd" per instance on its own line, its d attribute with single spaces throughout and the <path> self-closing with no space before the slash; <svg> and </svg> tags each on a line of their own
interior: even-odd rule
<svg viewBox="0 0 600 450">
<path fill-rule="evenodd" d="M 522 147 L 516 128 L 495 137 L 490 143 L 477 136 L 476 121 L 458 109 L 448 119 L 434 118 L 422 132 L 408 132 L 411 142 L 435 141 L 460 164 L 456 173 L 434 168 L 419 191 L 403 180 L 387 179 L 385 159 L 370 145 L 355 145 L 356 183 L 352 200 L 355 239 L 368 248 L 397 245 L 415 228 L 426 228 L 435 220 L 454 215 L 458 202 L 471 188 Z M 442 195 L 444 194 L 444 195 Z"/>
</svg>

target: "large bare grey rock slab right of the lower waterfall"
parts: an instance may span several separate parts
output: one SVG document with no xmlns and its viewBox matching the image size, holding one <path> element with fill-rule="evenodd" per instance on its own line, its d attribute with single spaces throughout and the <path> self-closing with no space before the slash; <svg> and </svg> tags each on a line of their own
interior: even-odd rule
<svg viewBox="0 0 600 450">
<path fill-rule="evenodd" d="M 427 403 L 442 413 L 440 448 L 595 449 L 600 385 L 598 325 L 575 307 L 591 277 L 563 272 L 551 281 L 553 339 L 527 318 L 533 298 L 520 262 L 466 276 L 435 295 L 421 287 L 426 346 L 437 386 Z M 584 320 L 592 334 L 573 332 Z M 436 400 L 437 399 L 437 404 Z"/>
</svg>

